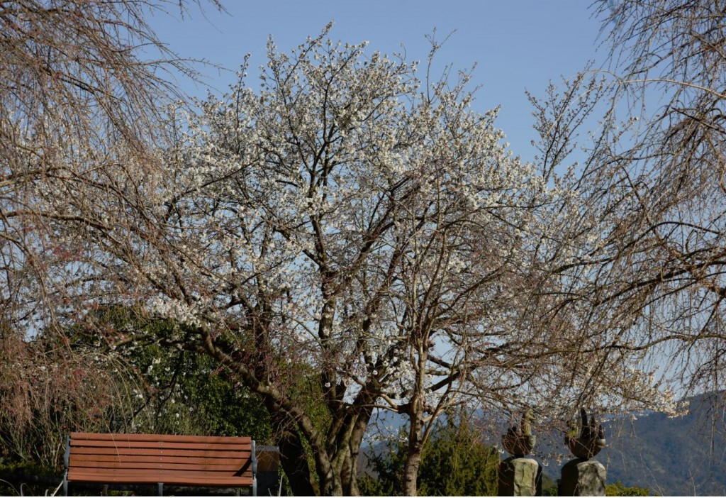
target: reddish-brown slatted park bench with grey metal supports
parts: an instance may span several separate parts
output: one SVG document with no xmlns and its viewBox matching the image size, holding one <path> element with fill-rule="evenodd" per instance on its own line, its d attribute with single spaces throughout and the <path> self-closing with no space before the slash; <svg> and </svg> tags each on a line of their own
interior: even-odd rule
<svg viewBox="0 0 726 498">
<path fill-rule="evenodd" d="M 69 483 L 256 486 L 252 438 L 159 434 L 71 433 L 65 449 L 63 491 Z"/>
</svg>

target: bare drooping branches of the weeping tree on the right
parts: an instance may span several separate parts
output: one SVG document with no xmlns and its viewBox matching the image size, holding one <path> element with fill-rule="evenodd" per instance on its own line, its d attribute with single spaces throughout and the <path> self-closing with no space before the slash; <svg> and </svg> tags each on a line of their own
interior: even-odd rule
<svg viewBox="0 0 726 498">
<path fill-rule="evenodd" d="M 723 9 L 595 2 L 610 67 L 534 100 L 542 168 L 584 151 L 570 229 L 593 236 L 563 268 L 571 285 L 552 313 L 582 306 L 583 327 L 616 331 L 612 355 L 648 351 L 653 382 L 682 396 L 726 387 Z M 588 116 L 597 129 L 578 143 Z"/>
</svg>

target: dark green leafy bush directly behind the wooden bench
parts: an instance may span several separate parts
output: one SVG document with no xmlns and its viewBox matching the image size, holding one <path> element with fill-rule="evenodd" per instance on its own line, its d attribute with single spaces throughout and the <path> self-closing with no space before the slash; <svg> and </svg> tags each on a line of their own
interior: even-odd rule
<svg viewBox="0 0 726 498">
<path fill-rule="evenodd" d="M 251 436 L 259 444 L 269 443 L 269 415 L 257 396 L 205 354 L 170 346 L 174 340 L 194 340 L 193 330 L 185 330 L 169 320 L 147 319 L 134 309 L 107 308 L 89 317 L 91 334 L 113 329 L 126 341 L 106 344 L 114 356 L 136 376 L 138 386 L 131 402 L 134 416 L 118 417 L 110 424 L 114 431 L 202 436 Z M 93 335 L 76 330 L 77 348 L 95 346 Z M 146 338 L 154 338 L 147 342 Z"/>
</svg>

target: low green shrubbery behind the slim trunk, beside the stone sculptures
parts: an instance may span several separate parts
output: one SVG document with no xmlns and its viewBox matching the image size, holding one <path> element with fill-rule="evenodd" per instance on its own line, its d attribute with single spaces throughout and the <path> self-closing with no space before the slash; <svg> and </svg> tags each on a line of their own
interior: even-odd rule
<svg viewBox="0 0 726 498">
<path fill-rule="evenodd" d="M 407 433 L 407 430 L 402 432 Z M 359 476 L 361 494 L 401 495 L 405 438 L 389 442 L 369 457 L 372 473 Z M 423 450 L 417 486 L 420 495 L 495 496 L 499 452 L 486 446 L 466 421 L 437 423 Z M 373 477 L 377 475 L 378 478 Z"/>
</svg>

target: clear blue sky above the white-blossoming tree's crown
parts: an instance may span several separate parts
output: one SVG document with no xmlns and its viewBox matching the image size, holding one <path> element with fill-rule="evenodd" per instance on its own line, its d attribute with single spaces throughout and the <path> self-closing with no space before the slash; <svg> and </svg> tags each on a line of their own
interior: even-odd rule
<svg viewBox="0 0 726 498">
<path fill-rule="evenodd" d="M 331 38 L 369 41 L 370 52 L 405 49 L 409 60 L 425 60 L 425 35 L 433 28 L 439 39 L 456 30 L 441 49 L 439 64 L 458 70 L 477 63 L 473 85 L 481 90 L 473 107 L 484 113 L 501 105 L 498 126 L 515 154 L 526 159 L 534 155 L 529 145 L 534 131 L 524 90 L 542 95 L 550 80 L 574 75 L 589 60 L 605 57 L 604 49 L 597 50 L 600 20 L 592 16 L 588 0 L 227 0 L 224 5 L 227 13 L 203 4 L 203 12 L 192 7 L 183 19 L 177 11 L 151 19 L 160 40 L 177 54 L 229 70 L 199 68 L 209 76 L 212 91 L 227 90 L 247 53 L 252 56 L 248 82 L 253 83 L 269 36 L 287 52 L 330 20 L 335 21 Z M 179 85 L 196 97 L 207 91 L 190 81 Z"/>
</svg>

